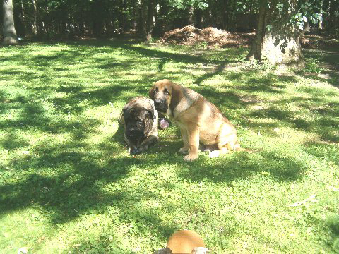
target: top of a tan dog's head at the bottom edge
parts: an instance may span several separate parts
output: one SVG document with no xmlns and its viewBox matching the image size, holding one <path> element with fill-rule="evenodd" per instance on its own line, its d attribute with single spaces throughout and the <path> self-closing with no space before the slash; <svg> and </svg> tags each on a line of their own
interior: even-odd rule
<svg viewBox="0 0 339 254">
<path fill-rule="evenodd" d="M 153 254 L 206 254 L 209 251 L 196 232 L 181 230 L 169 236 L 166 248 L 156 250 Z"/>
</svg>

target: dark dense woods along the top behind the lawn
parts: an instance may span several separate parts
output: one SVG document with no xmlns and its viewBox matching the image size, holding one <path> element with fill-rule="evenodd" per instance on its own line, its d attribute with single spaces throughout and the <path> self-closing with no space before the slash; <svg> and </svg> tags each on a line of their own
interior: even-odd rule
<svg viewBox="0 0 339 254">
<path fill-rule="evenodd" d="M 19 37 L 109 37 L 132 31 L 149 39 L 152 36 L 161 37 L 164 32 L 184 25 L 253 32 L 258 20 L 259 2 L 260 0 L 14 0 L 13 13 Z M 279 5 L 283 1 L 276 2 Z M 303 28 L 338 35 L 337 0 L 297 1 L 297 5 L 301 10 L 299 17 L 308 18 L 307 23 L 301 20 Z M 0 15 L 2 27 L 3 14 Z"/>
</svg>

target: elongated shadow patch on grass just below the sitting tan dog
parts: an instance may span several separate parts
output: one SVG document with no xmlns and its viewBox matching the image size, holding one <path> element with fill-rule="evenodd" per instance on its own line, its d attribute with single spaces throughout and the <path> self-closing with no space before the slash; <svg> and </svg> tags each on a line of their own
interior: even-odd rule
<svg viewBox="0 0 339 254">
<path fill-rule="evenodd" d="M 194 162 L 194 167 L 180 171 L 179 175 L 198 183 L 203 179 L 208 179 L 215 183 L 228 184 L 239 179 L 248 179 L 253 174 L 261 174 L 261 172 L 267 172 L 277 181 L 296 181 L 302 177 L 303 165 L 295 162 L 294 159 L 277 155 L 274 152 L 257 153 L 255 157 L 247 152 L 223 155 L 216 158 L 217 162 L 213 165 L 204 164 L 209 160 L 206 155 L 198 162 Z"/>
</svg>

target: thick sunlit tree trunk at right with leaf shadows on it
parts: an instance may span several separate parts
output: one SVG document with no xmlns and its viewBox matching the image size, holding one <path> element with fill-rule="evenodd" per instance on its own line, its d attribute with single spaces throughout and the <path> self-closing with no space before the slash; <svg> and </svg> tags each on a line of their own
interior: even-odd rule
<svg viewBox="0 0 339 254">
<path fill-rule="evenodd" d="M 272 64 L 304 64 L 298 28 L 287 25 L 276 15 L 266 9 L 266 1 L 260 1 L 258 29 L 247 59 L 268 60 Z"/>
</svg>

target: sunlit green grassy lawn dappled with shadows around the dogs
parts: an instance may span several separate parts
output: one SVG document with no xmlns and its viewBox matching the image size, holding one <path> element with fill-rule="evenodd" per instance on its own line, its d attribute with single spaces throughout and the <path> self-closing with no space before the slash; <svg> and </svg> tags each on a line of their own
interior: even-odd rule
<svg viewBox="0 0 339 254">
<path fill-rule="evenodd" d="M 0 253 L 152 253 L 178 229 L 212 253 L 339 253 L 338 52 L 306 51 L 302 70 L 245 63 L 246 52 L 0 48 Z M 129 156 L 121 109 L 162 78 L 218 105 L 256 152 L 184 162 L 171 126 Z"/>
</svg>

